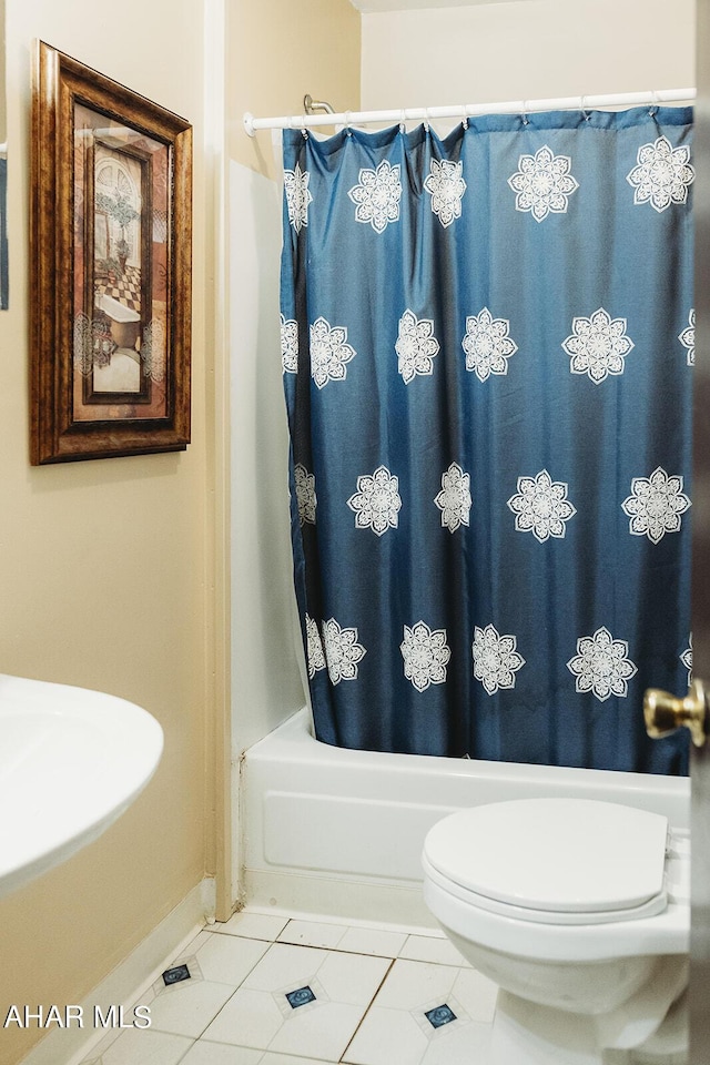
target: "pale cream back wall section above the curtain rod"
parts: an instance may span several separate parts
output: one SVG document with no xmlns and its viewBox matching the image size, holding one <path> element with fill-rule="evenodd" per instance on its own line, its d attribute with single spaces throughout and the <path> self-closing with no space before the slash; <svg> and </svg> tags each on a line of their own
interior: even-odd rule
<svg viewBox="0 0 710 1065">
<path fill-rule="evenodd" d="M 693 0 L 526 0 L 363 16 L 363 106 L 694 85 Z"/>
</svg>

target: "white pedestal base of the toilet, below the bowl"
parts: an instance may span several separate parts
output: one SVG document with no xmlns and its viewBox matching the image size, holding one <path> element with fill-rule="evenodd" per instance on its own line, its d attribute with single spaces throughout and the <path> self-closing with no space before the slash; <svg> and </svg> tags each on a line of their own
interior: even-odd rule
<svg viewBox="0 0 710 1065">
<path fill-rule="evenodd" d="M 674 955 L 659 957 L 653 980 L 610 1014 L 567 1013 L 500 990 L 490 1065 L 631 1065 L 658 1041 L 686 984 L 687 958 Z"/>
</svg>

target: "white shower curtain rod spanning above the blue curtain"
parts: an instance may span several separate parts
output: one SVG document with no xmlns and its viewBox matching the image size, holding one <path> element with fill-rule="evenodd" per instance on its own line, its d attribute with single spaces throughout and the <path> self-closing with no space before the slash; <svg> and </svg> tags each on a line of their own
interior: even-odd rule
<svg viewBox="0 0 710 1065">
<path fill-rule="evenodd" d="M 532 111 L 587 111 L 596 108 L 633 108 L 661 103 L 690 103 L 694 89 L 661 89 L 657 92 L 621 92 L 609 95 L 559 97 L 549 100 L 511 100 L 505 103 L 464 103 L 440 108 L 399 108 L 389 111 L 342 111 L 333 114 L 292 114 L 255 119 L 248 111 L 244 129 L 250 136 L 257 130 L 308 130 L 318 125 L 366 125 L 371 122 L 430 122 L 435 119 L 464 119 L 477 114 L 529 114 Z"/>
</svg>

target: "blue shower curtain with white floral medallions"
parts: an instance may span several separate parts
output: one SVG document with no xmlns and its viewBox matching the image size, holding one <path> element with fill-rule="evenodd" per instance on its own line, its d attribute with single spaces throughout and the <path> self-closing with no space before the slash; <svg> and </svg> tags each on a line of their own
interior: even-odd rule
<svg viewBox="0 0 710 1065">
<path fill-rule="evenodd" d="M 691 666 L 689 109 L 284 133 L 317 737 L 657 773 Z M 683 730 L 684 731 L 684 730 Z"/>
</svg>

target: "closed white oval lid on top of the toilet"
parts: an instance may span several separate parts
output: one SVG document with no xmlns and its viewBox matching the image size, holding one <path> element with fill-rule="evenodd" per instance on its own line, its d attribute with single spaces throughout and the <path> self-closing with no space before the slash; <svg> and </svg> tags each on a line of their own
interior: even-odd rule
<svg viewBox="0 0 710 1065">
<path fill-rule="evenodd" d="M 586 799 L 521 799 L 462 810 L 427 834 L 447 880 L 528 910 L 630 910 L 663 892 L 668 820 Z"/>
</svg>

